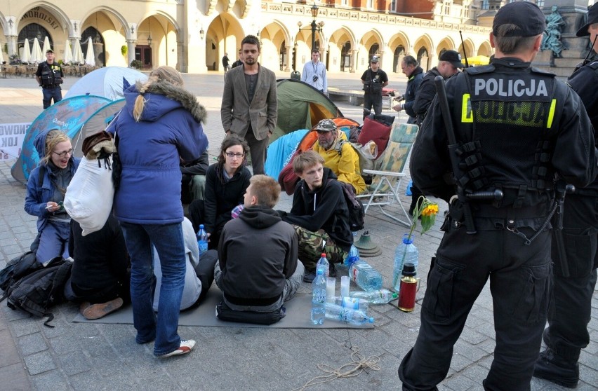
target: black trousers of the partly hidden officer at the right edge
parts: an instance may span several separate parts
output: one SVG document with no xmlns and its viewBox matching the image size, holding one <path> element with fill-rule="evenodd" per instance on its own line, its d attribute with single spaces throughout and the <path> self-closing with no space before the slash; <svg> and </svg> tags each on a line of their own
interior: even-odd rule
<svg viewBox="0 0 598 391">
<path fill-rule="evenodd" d="M 598 268 L 598 197 L 567 196 L 563 227 L 569 277 L 563 276 L 562 261 L 553 238 L 554 287 L 548 311 L 550 348 L 560 357 L 577 362 L 580 350 L 590 342 L 587 324 Z"/>
</svg>

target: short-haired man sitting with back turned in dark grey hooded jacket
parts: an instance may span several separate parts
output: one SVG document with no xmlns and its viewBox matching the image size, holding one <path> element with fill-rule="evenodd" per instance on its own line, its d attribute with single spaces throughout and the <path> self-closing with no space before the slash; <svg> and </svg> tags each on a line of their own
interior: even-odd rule
<svg viewBox="0 0 598 391">
<path fill-rule="evenodd" d="M 231 310 L 277 311 L 301 284 L 305 268 L 297 260 L 297 235 L 272 209 L 279 196 L 277 181 L 251 177 L 244 209 L 222 230 L 214 280 Z"/>
</svg>

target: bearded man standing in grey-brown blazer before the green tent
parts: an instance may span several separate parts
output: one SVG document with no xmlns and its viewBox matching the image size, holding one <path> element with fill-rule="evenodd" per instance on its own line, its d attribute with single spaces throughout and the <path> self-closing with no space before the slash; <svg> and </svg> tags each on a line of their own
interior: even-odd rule
<svg viewBox="0 0 598 391">
<path fill-rule="evenodd" d="M 249 144 L 253 174 L 264 174 L 268 139 L 278 118 L 276 75 L 258 62 L 260 40 L 241 41 L 243 66 L 227 72 L 220 117 L 227 135 L 244 137 Z"/>
</svg>

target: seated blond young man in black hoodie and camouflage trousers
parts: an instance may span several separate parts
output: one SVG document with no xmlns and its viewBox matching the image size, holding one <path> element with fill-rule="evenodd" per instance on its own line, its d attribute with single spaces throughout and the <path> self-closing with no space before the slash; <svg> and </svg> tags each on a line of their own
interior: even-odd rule
<svg viewBox="0 0 598 391">
<path fill-rule="evenodd" d="M 330 262 L 330 276 L 335 277 L 334 264 L 345 260 L 353 244 L 343 185 L 315 151 L 296 156 L 293 170 L 301 178 L 295 186 L 293 207 L 291 212 L 278 212 L 297 233 L 299 260 L 305 266 L 303 281 L 312 282 L 316 277 L 322 252 Z"/>
</svg>

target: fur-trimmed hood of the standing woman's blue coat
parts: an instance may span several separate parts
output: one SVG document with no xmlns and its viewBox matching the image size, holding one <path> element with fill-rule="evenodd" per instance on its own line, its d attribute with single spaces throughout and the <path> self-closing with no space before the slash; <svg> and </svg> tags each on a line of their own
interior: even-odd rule
<svg viewBox="0 0 598 391">
<path fill-rule="evenodd" d="M 143 83 L 137 82 L 124 92 L 126 109 L 133 113 L 135 100 L 142 89 Z M 156 81 L 143 93 L 145 107 L 141 115 L 142 121 L 157 121 L 158 118 L 175 109 L 189 111 L 197 122 L 205 122 L 206 108 L 197 102 L 197 97 L 184 88 L 178 87 L 167 81 Z"/>
</svg>

